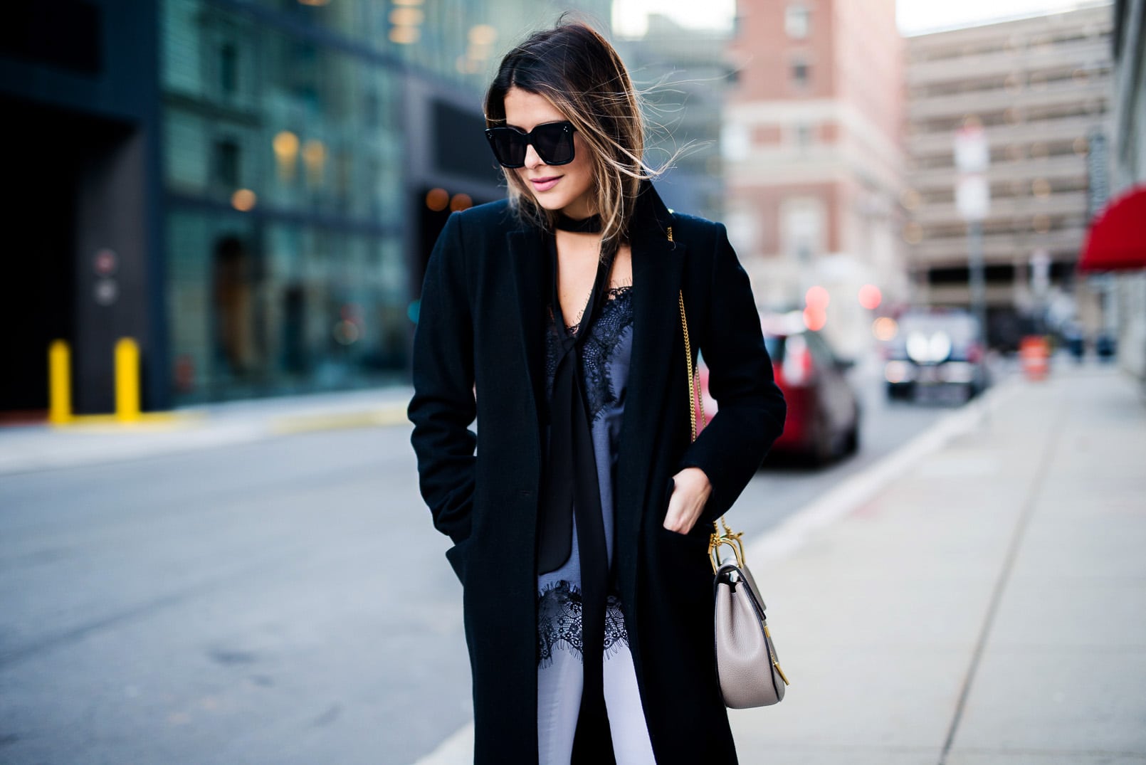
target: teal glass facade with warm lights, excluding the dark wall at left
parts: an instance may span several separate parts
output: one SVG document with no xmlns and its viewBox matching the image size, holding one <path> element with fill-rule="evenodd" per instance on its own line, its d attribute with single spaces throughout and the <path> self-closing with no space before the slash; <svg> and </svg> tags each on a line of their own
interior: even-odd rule
<svg viewBox="0 0 1146 765">
<path fill-rule="evenodd" d="M 441 207 L 500 196 L 481 92 L 556 15 L 528 0 L 164 0 L 175 403 L 405 379 Z"/>
</svg>

